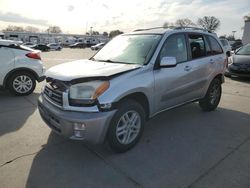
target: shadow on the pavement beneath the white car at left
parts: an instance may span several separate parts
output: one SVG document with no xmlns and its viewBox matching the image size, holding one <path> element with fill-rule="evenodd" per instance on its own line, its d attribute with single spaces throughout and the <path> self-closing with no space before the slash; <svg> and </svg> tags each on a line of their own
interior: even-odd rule
<svg viewBox="0 0 250 188">
<path fill-rule="evenodd" d="M 0 90 L 0 136 L 17 131 L 36 110 L 38 93 L 29 96 L 14 96 Z"/>
</svg>

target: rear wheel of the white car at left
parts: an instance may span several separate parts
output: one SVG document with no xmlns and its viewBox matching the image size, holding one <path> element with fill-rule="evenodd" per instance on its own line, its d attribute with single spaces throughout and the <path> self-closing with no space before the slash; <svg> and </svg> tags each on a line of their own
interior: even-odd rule
<svg viewBox="0 0 250 188">
<path fill-rule="evenodd" d="M 29 72 L 16 72 L 8 80 L 8 88 L 18 96 L 31 94 L 35 87 L 35 77 Z"/>
</svg>

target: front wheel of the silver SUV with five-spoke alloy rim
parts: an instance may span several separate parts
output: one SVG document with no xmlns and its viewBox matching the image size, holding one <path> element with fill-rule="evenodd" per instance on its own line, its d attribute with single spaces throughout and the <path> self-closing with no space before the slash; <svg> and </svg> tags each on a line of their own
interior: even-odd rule
<svg viewBox="0 0 250 188">
<path fill-rule="evenodd" d="M 145 111 L 134 100 L 124 100 L 115 113 L 107 134 L 111 149 L 123 153 L 139 141 L 145 124 Z"/>
</svg>

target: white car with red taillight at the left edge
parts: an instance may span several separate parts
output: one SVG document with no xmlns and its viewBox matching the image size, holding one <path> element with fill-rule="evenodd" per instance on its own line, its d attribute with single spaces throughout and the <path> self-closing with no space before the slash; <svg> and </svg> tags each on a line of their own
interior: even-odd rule
<svg viewBox="0 0 250 188">
<path fill-rule="evenodd" d="M 0 86 L 16 95 L 28 95 L 36 81 L 44 80 L 45 68 L 40 51 L 15 41 L 0 39 Z"/>
</svg>

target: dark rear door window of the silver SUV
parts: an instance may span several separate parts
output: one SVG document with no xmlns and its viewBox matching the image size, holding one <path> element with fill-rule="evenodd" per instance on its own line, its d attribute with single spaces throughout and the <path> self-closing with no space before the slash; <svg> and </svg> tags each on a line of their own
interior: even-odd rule
<svg viewBox="0 0 250 188">
<path fill-rule="evenodd" d="M 191 49 L 192 59 L 206 56 L 205 41 L 202 35 L 189 35 L 188 40 Z"/>
</svg>

